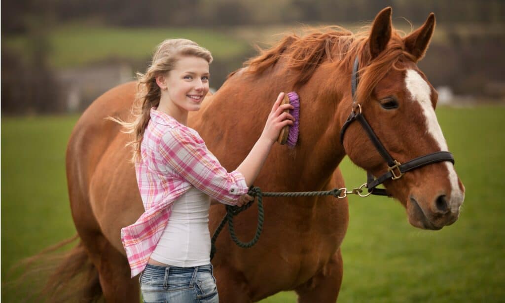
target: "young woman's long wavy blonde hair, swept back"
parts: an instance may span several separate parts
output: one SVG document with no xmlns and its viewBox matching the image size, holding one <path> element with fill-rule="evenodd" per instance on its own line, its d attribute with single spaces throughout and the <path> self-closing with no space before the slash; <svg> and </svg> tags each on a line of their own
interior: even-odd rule
<svg viewBox="0 0 505 303">
<path fill-rule="evenodd" d="M 132 140 L 126 144 L 132 146 L 133 163 L 140 160 L 140 143 L 150 119 L 150 110 L 160 104 L 161 89 L 156 83 L 156 77 L 173 70 L 176 62 L 184 56 L 195 56 L 207 60 L 209 64 L 212 63 L 211 52 L 196 42 L 188 39 L 167 39 L 161 42 L 145 74 L 137 72 L 137 96 L 131 108 L 132 122 L 107 117 L 121 124 L 125 129 L 122 132 L 133 135 Z"/>
</svg>

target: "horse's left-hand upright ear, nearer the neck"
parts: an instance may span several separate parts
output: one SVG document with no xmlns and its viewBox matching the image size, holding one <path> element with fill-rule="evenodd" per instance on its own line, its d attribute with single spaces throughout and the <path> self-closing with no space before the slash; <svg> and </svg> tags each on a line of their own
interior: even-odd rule
<svg viewBox="0 0 505 303">
<path fill-rule="evenodd" d="M 375 16 L 369 38 L 372 60 L 386 49 L 391 38 L 391 12 L 391 7 L 387 7 Z"/>
</svg>

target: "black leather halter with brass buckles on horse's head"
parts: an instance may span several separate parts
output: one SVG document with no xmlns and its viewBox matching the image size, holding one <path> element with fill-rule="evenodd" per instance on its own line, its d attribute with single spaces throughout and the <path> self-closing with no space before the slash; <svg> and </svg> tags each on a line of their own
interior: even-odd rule
<svg viewBox="0 0 505 303">
<path fill-rule="evenodd" d="M 358 87 L 358 81 L 359 81 L 359 75 L 358 75 L 358 69 L 359 69 L 360 62 L 358 58 L 354 61 L 354 66 L 352 67 L 352 78 L 351 78 L 351 92 L 352 92 L 352 109 L 350 112 L 349 117 L 347 117 L 347 120 L 345 121 L 344 125 L 342 126 L 342 130 L 340 130 L 340 143 L 343 146 L 343 141 L 344 141 L 344 134 L 345 130 L 349 125 L 355 121 L 358 120 L 360 124 L 363 126 L 365 129 L 365 132 L 367 133 L 368 137 L 374 144 L 375 148 L 379 151 L 379 154 L 384 158 L 384 160 L 387 162 L 387 172 L 384 173 L 382 176 L 378 177 L 377 179 L 374 178 L 374 176 L 367 171 L 367 188 L 368 192 L 372 194 L 377 194 L 377 195 L 388 195 L 385 189 L 382 188 L 376 188 L 379 184 L 382 184 L 384 181 L 387 179 L 392 179 L 396 180 L 401 178 L 401 176 L 413 169 L 420 168 L 422 166 L 432 164 L 432 163 L 437 163 L 437 162 L 442 162 L 442 161 L 449 161 L 454 164 L 454 158 L 452 157 L 452 154 L 449 153 L 448 151 L 437 151 L 432 154 L 428 154 L 425 156 L 421 156 L 418 158 L 415 158 L 407 163 L 399 163 L 398 161 L 394 160 L 391 155 L 387 152 L 386 148 L 384 148 L 384 145 L 380 142 L 379 138 L 375 135 L 374 131 L 372 130 L 372 127 L 370 127 L 370 124 L 368 124 L 367 120 L 365 119 L 365 116 L 362 114 L 362 108 L 359 103 L 356 102 L 356 89 Z"/>
</svg>

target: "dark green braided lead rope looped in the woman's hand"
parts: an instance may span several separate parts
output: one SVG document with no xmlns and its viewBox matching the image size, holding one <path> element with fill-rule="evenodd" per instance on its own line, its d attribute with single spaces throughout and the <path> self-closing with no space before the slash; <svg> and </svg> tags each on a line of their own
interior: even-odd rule
<svg viewBox="0 0 505 303">
<path fill-rule="evenodd" d="M 258 242 L 260 239 L 261 232 L 263 231 L 263 220 L 264 220 L 264 215 L 263 215 L 263 197 L 308 197 L 308 196 L 318 196 L 318 195 L 332 195 L 334 197 L 338 197 L 340 195 L 341 189 L 334 188 L 332 190 L 325 190 L 325 191 L 296 191 L 296 192 L 262 192 L 261 189 L 257 186 L 252 186 L 249 187 L 249 191 L 247 194 L 249 194 L 252 197 L 258 198 L 258 227 L 256 228 L 256 234 L 252 240 L 249 242 L 242 242 L 237 238 L 237 235 L 235 234 L 235 229 L 233 228 L 233 217 L 240 214 L 241 212 L 245 211 L 249 207 L 251 207 L 252 203 L 254 200 L 250 201 L 246 205 L 243 205 L 241 207 L 238 206 L 231 206 L 227 205 L 226 206 L 226 215 L 224 216 L 223 220 L 221 221 L 221 224 L 219 224 L 218 228 L 214 232 L 214 235 L 212 235 L 212 241 L 211 241 L 211 260 L 214 258 L 214 255 L 216 254 L 216 239 L 219 236 L 219 233 L 221 230 L 223 230 L 223 227 L 226 225 L 226 222 L 228 222 L 228 229 L 230 231 L 230 236 L 233 242 L 237 244 L 239 247 L 242 248 L 249 248 L 252 247 Z"/>
</svg>

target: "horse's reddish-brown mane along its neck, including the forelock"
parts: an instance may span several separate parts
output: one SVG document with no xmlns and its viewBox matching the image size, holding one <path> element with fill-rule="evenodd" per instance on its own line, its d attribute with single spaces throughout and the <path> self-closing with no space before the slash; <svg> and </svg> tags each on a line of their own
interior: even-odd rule
<svg viewBox="0 0 505 303">
<path fill-rule="evenodd" d="M 392 67 L 395 68 L 398 60 L 406 57 L 416 62 L 414 56 L 406 51 L 402 38 L 405 33 L 394 28 L 391 30 L 387 48 L 370 62 L 371 55 L 368 47 L 370 32 L 370 25 L 363 27 L 357 33 L 339 26 L 308 27 L 301 36 L 295 33 L 285 34 L 269 49 L 257 47 L 260 54 L 247 60 L 244 63 L 244 70 L 245 73 L 259 75 L 275 66 L 279 60 L 285 59 L 285 67 L 292 71 L 294 86 L 299 86 L 309 81 L 321 64 L 330 63 L 350 69 L 358 56 L 361 69 L 357 97 L 362 99 L 370 96 L 377 82 Z"/>
</svg>

